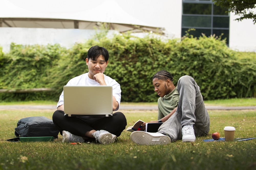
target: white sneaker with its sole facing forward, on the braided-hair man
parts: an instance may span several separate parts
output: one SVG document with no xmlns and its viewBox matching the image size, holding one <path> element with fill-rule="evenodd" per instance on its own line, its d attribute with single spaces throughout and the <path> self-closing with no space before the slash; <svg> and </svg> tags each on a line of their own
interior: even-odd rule
<svg viewBox="0 0 256 170">
<path fill-rule="evenodd" d="M 132 132 L 131 140 L 138 145 L 166 145 L 171 142 L 169 136 L 162 133 L 150 133 L 144 131 Z"/>
</svg>

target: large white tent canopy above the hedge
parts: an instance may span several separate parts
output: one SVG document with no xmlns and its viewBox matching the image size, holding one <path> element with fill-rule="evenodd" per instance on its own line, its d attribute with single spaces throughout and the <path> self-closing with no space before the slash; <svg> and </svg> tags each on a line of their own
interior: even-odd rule
<svg viewBox="0 0 256 170">
<path fill-rule="evenodd" d="M 0 27 L 94 29 L 106 23 L 120 32 L 164 34 L 164 28 L 132 17 L 114 0 L 0 0 L 0 4 Z"/>
</svg>

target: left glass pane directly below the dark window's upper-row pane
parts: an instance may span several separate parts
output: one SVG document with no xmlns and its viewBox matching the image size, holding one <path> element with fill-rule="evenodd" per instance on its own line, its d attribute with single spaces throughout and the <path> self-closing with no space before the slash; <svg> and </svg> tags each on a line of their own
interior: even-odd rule
<svg viewBox="0 0 256 170">
<path fill-rule="evenodd" d="M 182 16 L 182 27 L 211 27 L 211 17 Z"/>
</svg>

